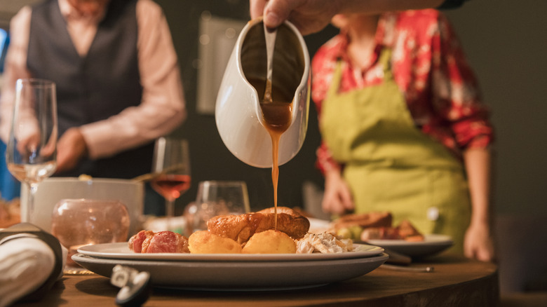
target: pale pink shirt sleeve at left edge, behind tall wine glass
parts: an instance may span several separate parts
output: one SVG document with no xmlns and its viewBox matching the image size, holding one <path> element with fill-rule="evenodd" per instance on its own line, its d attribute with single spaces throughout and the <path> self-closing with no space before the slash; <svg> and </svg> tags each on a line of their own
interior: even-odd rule
<svg viewBox="0 0 547 307">
<path fill-rule="evenodd" d="M 27 50 L 31 14 L 32 8 L 25 6 L 13 16 L 10 22 L 10 44 L 6 54 L 0 93 L 0 137 L 6 143 L 13 115 L 15 83 L 17 79 L 30 78 L 30 73 L 27 70 Z"/>
</svg>

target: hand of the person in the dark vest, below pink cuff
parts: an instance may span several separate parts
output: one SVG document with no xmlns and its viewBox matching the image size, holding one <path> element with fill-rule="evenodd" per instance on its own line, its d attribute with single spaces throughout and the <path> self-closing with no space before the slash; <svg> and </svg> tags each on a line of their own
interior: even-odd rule
<svg viewBox="0 0 547 307">
<path fill-rule="evenodd" d="M 76 167 L 88 155 L 88 146 L 78 128 L 70 128 L 57 143 L 57 170 L 65 172 Z"/>
</svg>

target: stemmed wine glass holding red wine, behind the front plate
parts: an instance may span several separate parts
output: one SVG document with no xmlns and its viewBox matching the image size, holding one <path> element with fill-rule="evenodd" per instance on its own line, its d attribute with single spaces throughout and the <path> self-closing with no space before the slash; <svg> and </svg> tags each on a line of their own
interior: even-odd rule
<svg viewBox="0 0 547 307">
<path fill-rule="evenodd" d="M 190 188 L 190 156 L 186 139 L 160 137 L 154 147 L 151 186 L 166 199 L 168 228 L 175 200 Z"/>
</svg>

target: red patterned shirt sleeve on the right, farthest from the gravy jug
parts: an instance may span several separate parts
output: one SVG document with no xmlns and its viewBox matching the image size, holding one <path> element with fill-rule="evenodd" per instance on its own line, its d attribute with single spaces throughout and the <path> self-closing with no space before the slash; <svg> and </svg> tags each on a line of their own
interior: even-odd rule
<svg viewBox="0 0 547 307">
<path fill-rule="evenodd" d="M 432 39 L 433 106 L 447 121 L 461 149 L 484 148 L 494 139 L 489 108 L 482 103 L 478 81 L 461 44 L 444 15 Z"/>
</svg>

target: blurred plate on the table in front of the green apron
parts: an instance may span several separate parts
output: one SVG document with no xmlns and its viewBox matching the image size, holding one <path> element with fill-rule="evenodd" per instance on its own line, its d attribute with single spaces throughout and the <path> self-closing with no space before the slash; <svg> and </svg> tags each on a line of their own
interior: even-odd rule
<svg viewBox="0 0 547 307">
<path fill-rule="evenodd" d="M 384 247 L 393 252 L 405 254 L 410 257 L 431 256 L 454 245 L 450 236 L 438 234 L 425 235 L 424 240 L 419 242 L 405 240 L 367 240 L 366 243 Z"/>
</svg>

